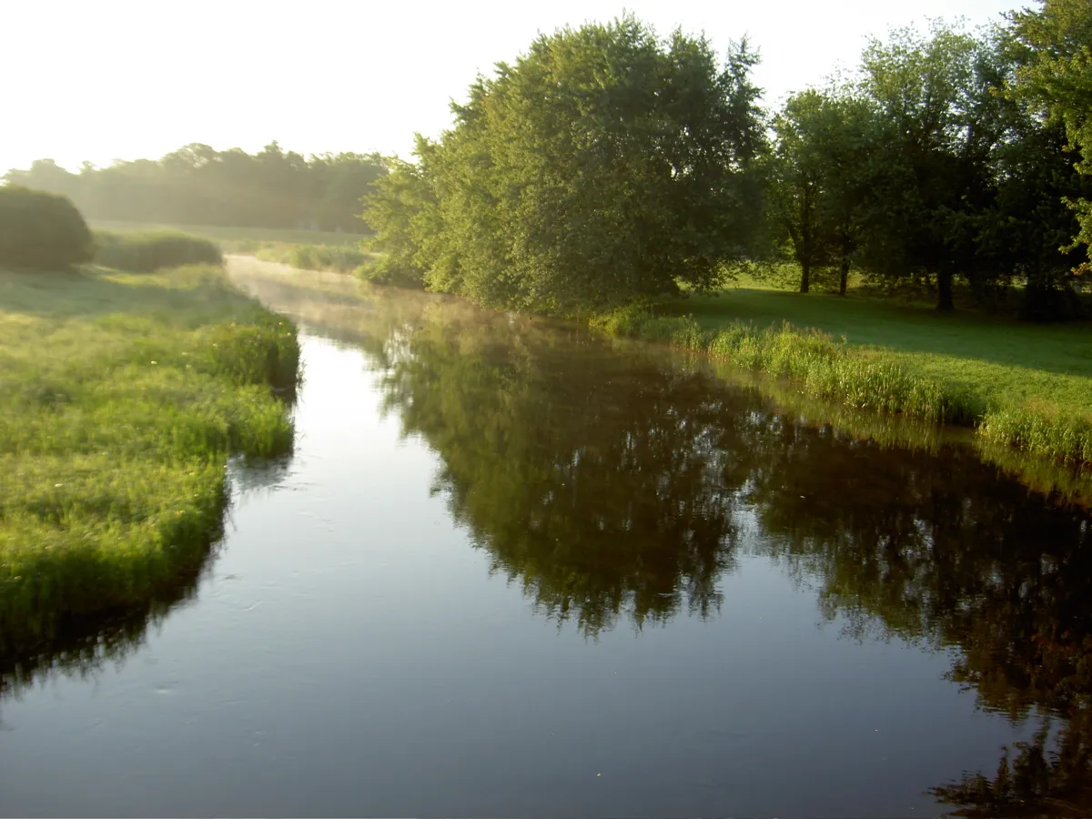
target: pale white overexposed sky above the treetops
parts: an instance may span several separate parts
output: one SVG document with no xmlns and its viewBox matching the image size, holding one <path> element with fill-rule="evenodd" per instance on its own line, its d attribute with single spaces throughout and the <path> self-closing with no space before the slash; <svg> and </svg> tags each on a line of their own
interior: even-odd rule
<svg viewBox="0 0 1092 819">
<path fill-rule="evenodd" d="M 929 17 L 975 26 L 1031 0 L 35 0 L 0 2 L 0 174 L 50 157 L 157 158 L 190 142 L 408 154 L 448 102 L 538 32 L 624 9 L 661 34 L 748 35 L 765 98 L 852 68 L 865 39 Z"/>
</svg>

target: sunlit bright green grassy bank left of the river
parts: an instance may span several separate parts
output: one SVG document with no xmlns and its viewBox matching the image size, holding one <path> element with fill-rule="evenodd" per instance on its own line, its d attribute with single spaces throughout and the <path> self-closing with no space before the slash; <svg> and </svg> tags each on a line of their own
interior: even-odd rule
<svg viewBox="0 0 1092 819">
<path fill-rule="evenodd" d="M 228 455 L 290 450 L 298 356 L 219 268 L 0 269 L 0 654 L 195 572 Z"/>
</svg>

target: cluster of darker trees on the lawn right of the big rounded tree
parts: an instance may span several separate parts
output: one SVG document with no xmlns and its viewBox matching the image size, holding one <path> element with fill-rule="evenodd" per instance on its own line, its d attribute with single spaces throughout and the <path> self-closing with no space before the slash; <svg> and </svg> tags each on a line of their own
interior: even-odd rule
<svg viewBox="0 0 1092 819">
<path fill-rule="evenodd" d="M 940 309 L 962 278 L 978 304 L 1017 286 L 1024 318 L 1076 317 L 1079 259 L 1063 246 L 1092 188 L 1060 124 L 1012 102 L 1040 57 L 999 28 L 899 29 L 870 43 L 855 82 L 791 97 L 764 169 L 800 289 L 836 268 L 844 294 L 856 268 L 927 288 Z"/>
</svg>

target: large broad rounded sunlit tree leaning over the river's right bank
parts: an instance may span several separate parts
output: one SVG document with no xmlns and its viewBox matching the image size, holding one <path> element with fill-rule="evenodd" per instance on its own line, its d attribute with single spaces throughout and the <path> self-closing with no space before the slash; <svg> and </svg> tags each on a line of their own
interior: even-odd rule
<svg viewBox="0 0 1092 819">
<path fill-rule="evenodd" d="M 376 275 L 558 313 L 711 286 L 757 229 L 755 61 L 632 16 L 541 36 L 368 200 Z"/>
</svg>

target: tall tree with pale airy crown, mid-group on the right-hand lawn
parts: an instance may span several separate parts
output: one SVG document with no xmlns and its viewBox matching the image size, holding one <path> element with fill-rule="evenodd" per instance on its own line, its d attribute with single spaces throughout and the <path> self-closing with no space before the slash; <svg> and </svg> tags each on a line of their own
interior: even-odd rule
<svg viewBox="0 0 1092 819">
<path fill-rule="evenodd" d="M 862 261 L 887 278 L 937 283 L 951 310 L 957 275 L 977 262 L 973 214 L 989 200 L 989 152 L 997 140 L 982 40 L 936 26 L 874 40 L 859 93 L 877 111 L 862 219 Z"/>
</svg>

